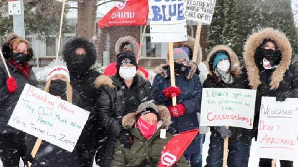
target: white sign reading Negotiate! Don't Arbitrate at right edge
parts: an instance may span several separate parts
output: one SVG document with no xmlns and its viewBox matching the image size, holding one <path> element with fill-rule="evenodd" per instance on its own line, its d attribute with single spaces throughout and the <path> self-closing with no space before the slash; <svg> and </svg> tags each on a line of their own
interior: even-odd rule
<svg viewBox="0 0 298 167">
<path fill-rule="evenodd" d="M 277 102 L 275 97 L 262 97 L 258 155 L 261 158 L 298 160 L 298 99 Z"/>
</svg>

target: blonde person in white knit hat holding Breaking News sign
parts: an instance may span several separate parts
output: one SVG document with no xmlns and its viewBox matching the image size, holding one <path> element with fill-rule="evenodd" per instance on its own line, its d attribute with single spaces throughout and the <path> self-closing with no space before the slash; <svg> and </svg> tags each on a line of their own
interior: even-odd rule
<svg viewBox="0 0 298 167">
<path fill-rule="evenodd" d="M 49 70 L 46 77 L 45 91 L 59 96 L 61 99 L 72 103 L 73 105 L 82 106 L 82 101 L 72 86 L 70 85 L 69 71 L 65 66 L 54 66 Z M 76 150 L 69 152 L 49 142 L 42 141 L 38 152 L 32 159 L 31 151 L 37 138 L 26 134 L 27 157 L 32 162 L 31 167 L 77 167 Z"/>
</svg>

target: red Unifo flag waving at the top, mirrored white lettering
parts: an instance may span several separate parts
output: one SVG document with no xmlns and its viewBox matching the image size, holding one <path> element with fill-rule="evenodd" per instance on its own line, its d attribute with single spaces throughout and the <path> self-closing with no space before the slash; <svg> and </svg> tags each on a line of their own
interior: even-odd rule
<svg viewBox="0 0 298 167">
<path fill-rule="evenodd" d="M 113 7 L 97 25 L 99 28 L 146 25 L 148 11 L 147 0 L 128 0 Z"/>
</svg>

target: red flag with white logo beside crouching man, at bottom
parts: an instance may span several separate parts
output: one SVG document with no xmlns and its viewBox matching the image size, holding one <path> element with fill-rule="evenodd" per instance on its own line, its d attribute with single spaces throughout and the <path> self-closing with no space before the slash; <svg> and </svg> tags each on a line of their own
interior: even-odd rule
<svg viewBox="0 0 298 167">
<path fill-rule="evenodd" d="M 194 129 L 175 135 L 163 148 L 158 167 L 175 165 L 198 132 L 199 129 Z"/>
</svg>

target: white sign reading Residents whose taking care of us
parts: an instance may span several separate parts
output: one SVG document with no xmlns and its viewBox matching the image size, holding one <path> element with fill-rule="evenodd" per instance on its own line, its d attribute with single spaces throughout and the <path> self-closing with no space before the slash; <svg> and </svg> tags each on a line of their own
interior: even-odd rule
<svg viewBox="0 0 298 167">
<path fill-rule="evenodd" d="M 215 0 L 185 0 L 184 6 L 186 19 L 211 24 Z"/>
</svg>

